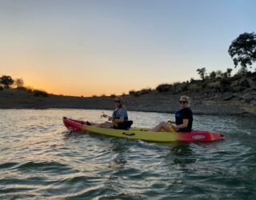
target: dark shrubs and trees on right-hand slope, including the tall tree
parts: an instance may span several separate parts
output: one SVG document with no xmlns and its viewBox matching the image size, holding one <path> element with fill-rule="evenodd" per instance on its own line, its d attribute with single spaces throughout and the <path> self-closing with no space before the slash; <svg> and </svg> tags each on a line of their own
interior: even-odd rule
<svg viewBox="0 0 256 200">
<path fill-rule="evenodd" d="M 256 85 L 256 72 L 251 72 L 248 68 L 250 67 L 251 69 L 256 61 L 256 34 L 240 34 L 229 46 L 228 53 L 233 59 L 234 68 L 239 67 L 238 73 L 234 74 L 234 76 L 231 76 L 231 68 L 227 68 L 226 72 L 216 70 L 208 74 L 206 67 L 202 67 L 197 70 L 201 78 L 199 80 L 190 78 L 190 81 L 186 82 L 164 83 L 158 85 L 155 90 L 130 90 L 129 94 L 138 97 L 142 94 L 148 94 L 151 91 L 157 91 L 159 93 L 169 92 L 172 94 L 178 94 L 180 92 L 216 93 L 227 91 L 239 92 L 246 90 L 246 88 L 254 88 Z"/>
</svg>

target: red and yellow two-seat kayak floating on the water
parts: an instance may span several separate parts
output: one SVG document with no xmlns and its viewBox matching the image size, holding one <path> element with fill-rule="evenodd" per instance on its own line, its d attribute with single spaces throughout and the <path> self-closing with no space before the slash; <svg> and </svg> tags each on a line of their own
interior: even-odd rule
<svg viewBox="0 0 256 200">
<path fill-rule="evenodd" d="M 172 141 L 214 141 L 224 139 L 224 135 L 217 132 L 195 130 L 190 133 L 174 133 L 174 132 L 150 132 L 142 131 L 141 128 L 130 128 L 130 130 L 105 129 L 95 126 L 88 126 L 85 122 L 70 118 L 63 118 L 64 125 L 69 130 L 77 132 L 90 132 L 93 134 L 104 134 L 118 138 L 141 139 L 154 142 L 172 142 Z"/>
</svg>

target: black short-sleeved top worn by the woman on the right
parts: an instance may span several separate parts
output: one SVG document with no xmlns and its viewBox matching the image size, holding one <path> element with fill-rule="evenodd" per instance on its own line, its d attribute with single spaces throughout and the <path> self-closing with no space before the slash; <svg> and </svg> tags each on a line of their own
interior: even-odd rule
<svg viewBox="0 0 256 200">
<path fill-rule="evenodd" d="M 188 126 L 184 129 L 179 129 L 179 132 L 191 132 L 193 123 L 193 113 L 190 107 L 182 108 L 175 113 L 175 123 L 180 125 L 183 123 L 183 119 L 189 120 Z"/>
</svg>

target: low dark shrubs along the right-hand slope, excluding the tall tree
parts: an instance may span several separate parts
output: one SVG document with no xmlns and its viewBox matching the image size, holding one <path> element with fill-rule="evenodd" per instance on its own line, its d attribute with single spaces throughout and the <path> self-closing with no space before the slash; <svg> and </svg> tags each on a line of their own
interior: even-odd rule
<svg viewBox="0 0 256 200">
<path fill-rule="evenodd" d="M 154 90 L 130 90 L 129 94 L 139 97 L 142 94 L 149 94 L 150 92 L 158 93 L 216 93 L 216 92 L 240 92 L 247 88 L 254 87 L 256 84 L 256 72 L 246 72 L 246 74 L 234 74 L 234 76 L 226 76 L 226 72 L 213 71 L 210 74 L 218 74 L 214 76 L 205 76 L 201 80 L 193 78 L 186 82 L 174 82 L 173 84 L 160 84 Z M 254 88 L 256 89 L 256 88 Z"/>
</svg>

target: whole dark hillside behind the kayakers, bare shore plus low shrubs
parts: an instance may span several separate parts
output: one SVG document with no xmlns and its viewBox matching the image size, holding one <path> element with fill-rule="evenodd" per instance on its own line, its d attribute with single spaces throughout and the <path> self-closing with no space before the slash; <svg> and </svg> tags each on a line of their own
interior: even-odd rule
<svg viewBox="0 0 256 200">
<path fill-rule="evenodd" d="M 174 113 L 178 110 L 178 97 L 191 97 L 194 114 L 224 114 L 256 116 L 256 78 L 249 76 L 217 78 L 208 81 L 191 81 L 169 85 L 168 90 L 130 91 L 123 96 L 128 110 Z M 168 84 L 163 84 L 168 86 Z M 161 86 L 161 85 L 159 85 Z M 159 88 L 158 88 L 159 89 Z M 49 94 L 34 96 L 26 90 L 0 91 L 2 109 L 76 108 L 112 110 L 113 97 L 71 97 Z"/>
</svg>

